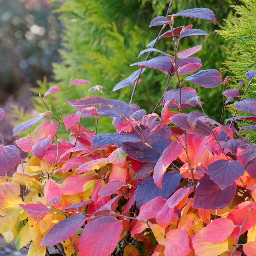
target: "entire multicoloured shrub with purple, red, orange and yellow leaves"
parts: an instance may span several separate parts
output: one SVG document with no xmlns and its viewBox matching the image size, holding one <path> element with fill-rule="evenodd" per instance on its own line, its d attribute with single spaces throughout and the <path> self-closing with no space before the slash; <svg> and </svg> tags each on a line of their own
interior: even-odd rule
<svg viewBox="0 0 256 256">
<path fill-rule="evenodd" d="M 223 82 L 214 69 L 181 81 L 180 75 L 192 74 L 202 64 L 190 57 L 201 45 L 178 52 L 180 40 L 207 33 L 192 25 L 174 28 L 179 16 L 216 22 L 206 8 L 154 18 L 150 26 L 162 25 L 161 32 L 170 26 L 164 36 L 172 38 L 174 55 L 154 48 L 161 33 L 140 53 L 148 52 L 145 61 L 134 64 L 140 69 L 115 87 L 133 86 L 130 104 L 108 99 L 98 85 L 89 91 L 102 96 L 68 102 L 70 88 L 90 83 L 70 79 L 59 119 L 45 104 L 46 112 L 14 127 L 16 135 L 50 118 L 16 141 L 31 156 L 20 163 L 15 146 L 0 145 L 0 231 L 7 241 L 16 239 L 17 249 L 29 244 L 29 256 L 49 256 L 49 246 L 63 256 L 255 255 L 256 145 L 234 135 L 234 121 L 256 122 L 256 116 L 235 113 L 229 125 L 221 125 L 205 115 L 195 89 L 182 87 L 184 81 L 206 88 Z M 151 52 L 163 56 L 148 60 Z M 164 100 L 156 105 L 162 108 L 160 115 L 131 103 L 144 67 L 169 74 Z M 255 76 L 256 70 L 246 73 L 246 88 Z M 168 90 L 174 77 L 179 89 Z M 51 87 L 42 102 L 53 92 L 60 88 Z M 236 94 L 225 90 L 228 97 Z M 68 103 L 77 113 L 61 121 Z M 202 112 L 183 113 L 195 106 Z M 235 106 L 253 112 L 254 102 L 242 97 Z M 86 129 L 81 119 L 88 116 L 97 122 L 113 118 L 116 132 Z M 69 141 L 57 135 L 60 125 L 69 130 Z M 17 164 L 17 172 L 8 177 Z"/>
</svg>

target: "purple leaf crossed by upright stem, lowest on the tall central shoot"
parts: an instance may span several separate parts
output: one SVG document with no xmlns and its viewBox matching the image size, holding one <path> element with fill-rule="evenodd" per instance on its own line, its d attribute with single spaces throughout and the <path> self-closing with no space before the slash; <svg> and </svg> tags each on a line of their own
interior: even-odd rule
<svg viewBox="0 0 256 256">
<path fill-rule="evenodd" d="M 181 107 L 182 109 L 188 109 L 191 107 L 196 107 L 198 102 L 196 100 L 191 100 L 190 103 L 187 103 L 188 100 L 195 97 L 197 94 L 193 92 L 189 92 L 186 90 L 187 88 L 181 89 Z M 180 103 L 180 89 L 171 89 L 164 93 L 164 100 L 175 100 L 176 104 Z M 201 101 L 200 101 L 201 102 Z M 163 103 L 162 103 L 163 104 Z M 203 104 L 203 102 L 201 102 Z M 169 103 L 169 108 L 178 108 L 177 105 L 173 103 Z"/>
</svg>

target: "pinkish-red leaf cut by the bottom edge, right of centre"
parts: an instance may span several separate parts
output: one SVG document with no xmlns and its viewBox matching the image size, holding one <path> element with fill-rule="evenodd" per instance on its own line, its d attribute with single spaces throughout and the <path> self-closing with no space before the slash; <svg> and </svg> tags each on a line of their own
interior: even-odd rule
<svg viewBox="0 0 256 256">
<path fill-rule="evenodd" d="M 173 229 L 166 234 L 164 255 L 185 256 L 191 253 L 188 235 L 184 230 Z"/>
</svg>

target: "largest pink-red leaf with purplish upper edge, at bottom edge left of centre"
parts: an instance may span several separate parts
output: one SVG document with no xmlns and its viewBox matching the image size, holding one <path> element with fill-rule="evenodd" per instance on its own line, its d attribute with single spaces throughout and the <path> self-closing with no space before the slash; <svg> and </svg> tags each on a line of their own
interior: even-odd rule
<svg viewBox="0 0 256 256">
<path fill-rule="evenodd" d="M 100 217 L 86 224 L 79 239 L 79 255 L 108 256 L 116 248 L 122 230 L 122 221 L 114 216 Z"/>
</svg>

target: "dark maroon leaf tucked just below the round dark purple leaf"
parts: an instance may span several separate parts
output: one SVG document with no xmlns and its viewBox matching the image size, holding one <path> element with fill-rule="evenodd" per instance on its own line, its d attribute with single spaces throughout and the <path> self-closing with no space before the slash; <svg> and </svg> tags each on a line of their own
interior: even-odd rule
<svg viewBox="0 0 256 256">
<path fill-rule="evenodd" d="M 236 194 L 236 183 L 228 186 L 224 190 L 205 174 L 196 187 L 193 208 L 204 210 L 216 210 L 225 208 Z"/>
</svg>

